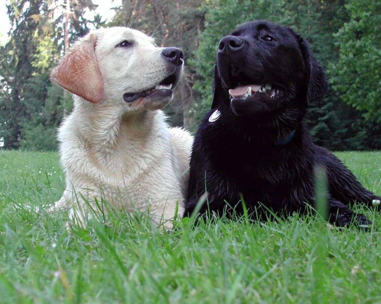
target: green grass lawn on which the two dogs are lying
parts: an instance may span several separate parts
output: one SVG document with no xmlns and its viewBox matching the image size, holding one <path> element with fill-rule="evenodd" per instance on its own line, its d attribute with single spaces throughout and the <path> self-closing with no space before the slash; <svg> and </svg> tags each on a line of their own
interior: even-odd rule
<svg viewBox="0 0 381 304">
<path fill-rule="evenodd" d="M 381 152 L 337 153 L 381 194 Z M 381 303 L 381 216 L 370 232 L 297 214 L 280 222 L 139 214 L 65 228 L 56 153 L 0 151 L 1 303 Z"/>
</svg>

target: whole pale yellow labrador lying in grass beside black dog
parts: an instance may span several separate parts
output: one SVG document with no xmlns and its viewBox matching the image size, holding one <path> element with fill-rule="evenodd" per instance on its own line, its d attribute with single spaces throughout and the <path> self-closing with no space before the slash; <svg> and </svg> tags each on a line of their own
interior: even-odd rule
<svg viewBox="0 0 381 304">
<path fill-rule="evenodd" d="M 157 47 L 131 28 L 98 29 L 75 43 L 51 72 L 53 82 L 75 94 L 58 130 L 66 189 L 53 209 L 70 208 L 82 225 L 101 198 L 149 210 L 167 227 L 177 202 L 182 216 L 193 138 L 168 127 L 160 110 L 182 69 L 178 48 Z"/>
</svg>

